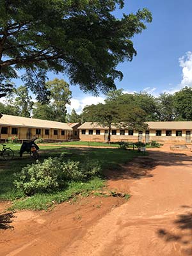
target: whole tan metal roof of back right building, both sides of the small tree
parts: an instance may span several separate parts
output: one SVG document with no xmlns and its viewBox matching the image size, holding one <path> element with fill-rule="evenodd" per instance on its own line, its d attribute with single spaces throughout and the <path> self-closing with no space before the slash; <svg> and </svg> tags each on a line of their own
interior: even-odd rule
<svg viewBox="0 0 192 256">
<path fill-rule="evenodd" d="M 148 129 L 151 130 L 192 130 L 192 122 L 191 121 L 178 121 L 178 122 L 147 122 Z M 112 129 L 118 129 L 119 127 L 115 127 L 113 125 Z M 108 129 L 108 127 L 102 127 L 102 125 L 98 125 L 97 123 L 85 122 L 78 129 Z"/>
</svg>

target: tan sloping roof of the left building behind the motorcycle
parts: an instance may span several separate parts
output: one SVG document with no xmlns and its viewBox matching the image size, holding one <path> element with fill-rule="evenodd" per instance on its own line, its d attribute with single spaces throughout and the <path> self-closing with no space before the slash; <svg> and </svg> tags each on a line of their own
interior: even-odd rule
<svg viewBox="0 0 192 256">
<path fill-rule="evenodd" d="M 53 128 L 53 129 L 63 129 L 63 130 L 72 130 L 72 128 L 65 123 L 27 118 L 22 116 L 11 116 L 3 115 L 0 119 L 0 125 L 11 125 L 15 127 L 35 127 L 35 128 Z"/>
</svg>

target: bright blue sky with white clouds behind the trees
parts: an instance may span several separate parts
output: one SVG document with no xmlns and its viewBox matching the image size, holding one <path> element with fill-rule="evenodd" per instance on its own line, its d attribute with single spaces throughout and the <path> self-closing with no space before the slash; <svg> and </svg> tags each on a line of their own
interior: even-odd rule
<svg viewBox="0 0 192 256">
<path fill-rule="evenodd" d="M 191 0 L 125 0 L 123 10 L 116 10 L 115 16 L 122 13 L 136 13 L 148 8 L 152 12 L 152 23 L 147 29 L 132 38 L 137 56 L 131 62 L 118 65 L 124 74 L 122 81 L 116 81 L 117 89 L 124 92 L 174 93 L 184 86 L 192 86 L 192 1 Z M 58 77 L 68 82 L 67 76 L 49 73 L 49 79 Z M 78 86 L 70 86 L 72 100 L 67 106 L 70 113 L 77 113 L 87 104 L 104 102 L 105 95 L 93 97 L 83 93 Z"/>
</svg>

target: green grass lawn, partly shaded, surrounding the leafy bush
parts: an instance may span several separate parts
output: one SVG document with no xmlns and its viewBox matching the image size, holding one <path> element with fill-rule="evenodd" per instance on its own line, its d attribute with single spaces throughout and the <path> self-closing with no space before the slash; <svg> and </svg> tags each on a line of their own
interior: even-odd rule
<svg viewBox="0 0 192 256">
<path fill-rule="evenodd" d="M 15 158 L 6 162 L 0 159 L 0 200 L 12 200 L 12 209 L 47 209 L 55 203 L 60 203 L 77 194 L 88 195 L 90 191 L 101 189 L 106 180 L 102 177 L 95 177 L 86 182 L 68 182 L 67 188 L 54 193 L 38 193 L 33 196 L 25 196 L 21 191 L 13 186 L 13 173 L 20 172 L 26 164 L 34 163 L 29 154 L 24 154 L 22 159 L 19 158 L 20 145 L 8 145 L 15 152 Z M 67 147 L 40 147 L 40 161 L 49 156 L 59 156 L 65 154 L 66 159 L 74 161 L 86 161 L 87 158 L 98 159 L 105 168 L 116 168 L 121 163 L 131 161 L 133 157 L 140 156 L 141 153 L 133 150 L 121 150 L 119 148 L 67 148 Z"/>
</svg>

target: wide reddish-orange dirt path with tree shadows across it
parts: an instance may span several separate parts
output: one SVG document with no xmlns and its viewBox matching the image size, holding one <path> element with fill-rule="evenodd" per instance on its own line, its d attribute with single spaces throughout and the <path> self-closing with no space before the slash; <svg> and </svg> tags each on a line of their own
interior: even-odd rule
<svg viewBox="0 0 192 256">
<path fill-rule="evenodd" d="M 111 188 L 131 191 L 125 204 L 90 197 L 52 212 L 18 212 L 8 223 L 14 229 L 0 229 L 0 255 L 192 255 L 191 162 L 191 153 L 150 150 L 107 173 Z"/>
</svg>

